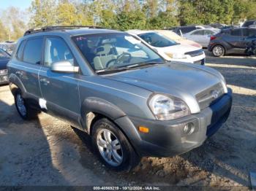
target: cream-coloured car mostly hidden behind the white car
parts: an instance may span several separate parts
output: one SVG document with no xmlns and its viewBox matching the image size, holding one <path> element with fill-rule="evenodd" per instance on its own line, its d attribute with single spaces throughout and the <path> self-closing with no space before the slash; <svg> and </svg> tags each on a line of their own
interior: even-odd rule
<svg viewBox="0 0 256 191">
<path fill-rule="evenodd" d="M 194 41 L 188 40 L 184 37 L 181 37 L 173 31 L 170 31 L 170 30 L 154 30 L 154 31 L 166 36 L 167 38 L 169 38 L 171 40 L 174 40 L 175 42 L 178 42 L 179 44 L 190 45 L 193 47 L 202 48 L 202 46 L 200 44 L 198 44 L 197 42 L 194 42 Z"/>
</svg>

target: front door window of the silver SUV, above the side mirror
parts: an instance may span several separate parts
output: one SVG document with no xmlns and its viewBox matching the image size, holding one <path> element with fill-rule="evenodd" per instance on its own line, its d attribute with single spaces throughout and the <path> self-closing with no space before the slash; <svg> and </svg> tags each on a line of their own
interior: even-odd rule
<svg viewBox="0 0 256 191">
<path fill-rule="evenodd" d="M 45 66 L 52 63 L 69 61 L 74 66 L 74 57 L 63 39 L 49 37 L 45 40 Z"/>
</svg>

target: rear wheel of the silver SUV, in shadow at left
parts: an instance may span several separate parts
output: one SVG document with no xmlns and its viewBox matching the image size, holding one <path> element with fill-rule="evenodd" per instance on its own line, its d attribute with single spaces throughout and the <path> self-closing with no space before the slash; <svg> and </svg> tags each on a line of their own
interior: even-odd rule
<svg viewBox="0 0 256 191">
<path fill-rule="evenodd" d="M 31 109 L 26 99 L 23 98 L 20 89 L 15 91 L 14 98 L 18 114 L 20 114 L 20 117 L 23 118 L 23 120 L 33 120 L 37 118 L 38 111 Z"/>
</svg>

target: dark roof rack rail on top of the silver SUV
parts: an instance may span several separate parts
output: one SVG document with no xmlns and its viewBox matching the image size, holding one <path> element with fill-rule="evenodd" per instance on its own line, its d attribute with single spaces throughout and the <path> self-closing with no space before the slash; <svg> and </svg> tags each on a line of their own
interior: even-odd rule
<svg viewBox="0 0 256 191">
<path fill-rule="evenodd" d="M 45 26 L 42 28 L 30 28 L 28 31 L 24 33 L 23 36 L 29 34 L 36 34 L 40 32 L 46 31 L 54 31 L 54 30 L 67 30 L 67 29 L 75 29 L 75 28 L 102 28 L 100 26 Z"/>
</svg>

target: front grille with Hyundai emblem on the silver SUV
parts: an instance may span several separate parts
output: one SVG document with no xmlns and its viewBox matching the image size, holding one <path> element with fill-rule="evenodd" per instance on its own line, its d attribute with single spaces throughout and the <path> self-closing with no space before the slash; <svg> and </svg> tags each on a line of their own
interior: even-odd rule
<svg viewBox="0 0 256 191">
<path fill-rule="evenodd" d="M 195 95 L 197 102 L 200 106 L 200 109 L 205 109 L 206 107 L 213 104 L 217 99 L 221 98 L 224 95 L 224 89 L 221 83 L 214 85 L 207 90 L 204 90 L 201 93 Z"/>
</svg>

